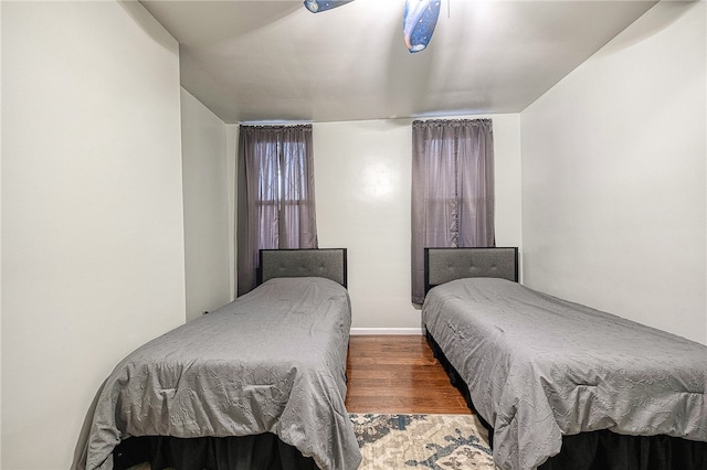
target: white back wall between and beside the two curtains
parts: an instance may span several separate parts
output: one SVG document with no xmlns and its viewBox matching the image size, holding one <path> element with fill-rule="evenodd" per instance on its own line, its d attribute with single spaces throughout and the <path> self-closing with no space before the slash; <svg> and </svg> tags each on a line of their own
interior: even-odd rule
<svg viewBox="0 0 707 470">
<path fill-rule="evenodd" d="M 494 121 L 497 245 L 520 246 L 519 116 L 476 117 Z M 411 154 L 408 119 L 314 125 L 319 247 L 348 248 L 355 333 L 420 332 L 410 300 Z"/>
</svg>

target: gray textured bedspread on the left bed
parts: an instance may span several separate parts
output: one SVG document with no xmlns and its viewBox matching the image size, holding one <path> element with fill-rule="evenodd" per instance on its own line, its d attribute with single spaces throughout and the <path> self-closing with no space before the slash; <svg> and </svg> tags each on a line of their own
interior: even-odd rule
<svg viewBox="0 0 707 470">
<path fill-rule="evenodd" d="M 87 469 L 113 468 L 130 436 L 273 432 L 320 469 L 356 469 L 344 407 L 351 309 L 323 278 L 271 279 L 130 353 L 107 378 Z"/>
</svg>

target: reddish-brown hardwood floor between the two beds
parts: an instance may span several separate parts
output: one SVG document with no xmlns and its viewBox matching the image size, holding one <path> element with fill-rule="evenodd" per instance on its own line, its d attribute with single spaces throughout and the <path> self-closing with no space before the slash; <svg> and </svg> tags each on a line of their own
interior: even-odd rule
<svg viewBox="0 0 707 470">
<path fill-rule="evenodd" d="M 422 335 L 351 335 L 347 374 L 349 413 L 471 414 Z"/>
</svg>

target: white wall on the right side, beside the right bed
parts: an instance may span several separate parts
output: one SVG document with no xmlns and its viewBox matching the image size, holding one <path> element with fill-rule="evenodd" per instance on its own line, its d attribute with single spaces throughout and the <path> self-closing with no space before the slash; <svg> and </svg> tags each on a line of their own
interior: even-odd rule
<svg viewBox="0 0 707 470">
<path fill-rule="evenodd" d="M 521 113 L 525 282 L 703 343 L 705 10 L 659 2 Z"/>
</svg>

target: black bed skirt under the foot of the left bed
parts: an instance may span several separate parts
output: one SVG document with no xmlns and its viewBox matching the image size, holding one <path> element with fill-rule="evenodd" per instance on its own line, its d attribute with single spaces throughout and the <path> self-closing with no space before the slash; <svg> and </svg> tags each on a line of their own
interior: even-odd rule
<svg viewBox="0 0 707 470">
<path fill-rule="evenodd" d="M 113 468 L 150 462 L 151 470 L 318 470 L 312 457 L 265 432 L 243 437 L 130 437 L 113 451 Z"/>
</svg>

